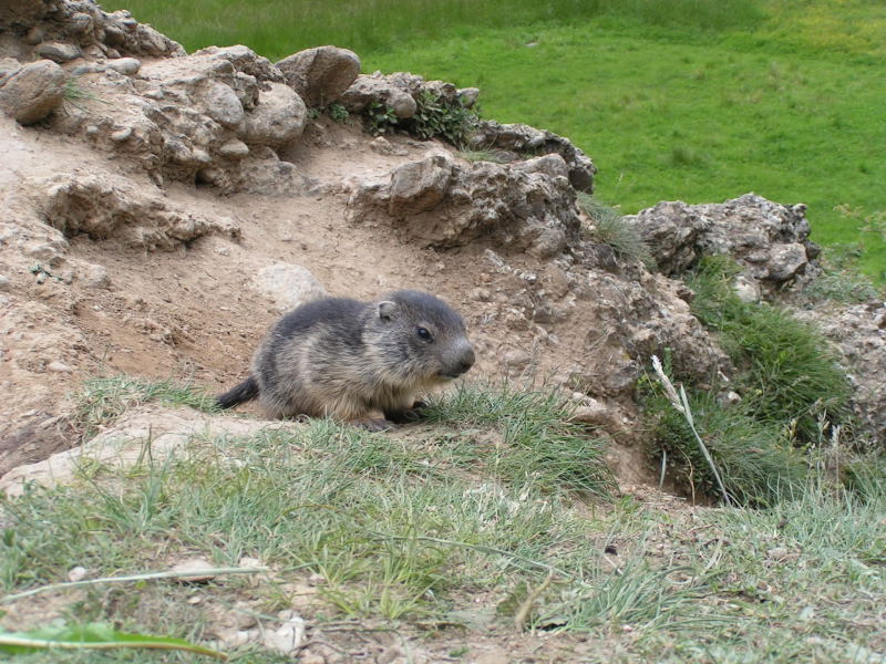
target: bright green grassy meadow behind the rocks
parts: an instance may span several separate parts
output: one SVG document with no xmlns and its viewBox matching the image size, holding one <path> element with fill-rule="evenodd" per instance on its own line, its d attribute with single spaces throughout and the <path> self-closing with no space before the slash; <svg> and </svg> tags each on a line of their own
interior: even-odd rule
<svg viewBox="0 0 886 664">
<path fill-rule="evenodd" d="M 756 191 L 886 279 L 886 6 L 866 0 L 105 2 L 188 50 L 334 43 L 571 138 L 622 212 Z"/>
</svg>

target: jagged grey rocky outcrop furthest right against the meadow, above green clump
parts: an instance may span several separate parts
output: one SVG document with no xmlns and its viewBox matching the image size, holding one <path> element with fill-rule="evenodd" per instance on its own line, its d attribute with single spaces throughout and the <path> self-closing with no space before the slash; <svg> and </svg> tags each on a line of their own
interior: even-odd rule
<svg viewBox="0 0 886 664">
<path fill-rule="evenodd" d="M 723 253 L 745 268 L 745 279 L 772 290 L 820 271 L 805 211 L 802 204 L 745 194 L 723 204 L 659 203 L 625 220 L 640 231 L 666 274 L 681 274 L 705 253 Z"/>
</svg>

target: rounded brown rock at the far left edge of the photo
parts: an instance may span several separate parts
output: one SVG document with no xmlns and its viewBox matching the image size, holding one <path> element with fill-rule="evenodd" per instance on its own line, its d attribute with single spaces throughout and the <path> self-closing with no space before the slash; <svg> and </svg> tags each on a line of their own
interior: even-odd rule
<svg viewBox="0 0 886 664">
<path fill-rule="evenodd" d="M 58 108 L 64 94 L 64 72 L 49 60 L 25 64 L 0 87 L 0 108 L 28 125 Z"/>
</svg>

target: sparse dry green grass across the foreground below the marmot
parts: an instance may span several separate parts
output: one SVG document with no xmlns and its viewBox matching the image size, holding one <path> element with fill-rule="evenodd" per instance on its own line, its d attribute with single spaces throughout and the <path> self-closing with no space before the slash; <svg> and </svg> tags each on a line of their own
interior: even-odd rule
<svg viewBox="0 0 886 664">
<path fill-rule="evenodd" d="M 274 614 L 298 601 L 292 589 L 313 573 L 323 582 L 299 613 L 321 629 L 347 619 L 356 630 L 471 647 L 492 636 L 483 620 L 519 639 L 518 620 L 564 637 L 584 633 L 611 649 L 612 662 L 845 661 L 862 645 L 886 649 L 880 475 L 858 476 L 864 500 L 813 478 L 761 510 L 587 501 L 584 490 L 549 484 L 544 456 L 503 469 L 534 440 L 547 447 L 576 433 L 559 424 L 563 404 L 553 396 L 471 388 L 432 413 L 434 422 L 396 435 L 312 421 L 249 438 L 197 438 L 174 460 L 93 469 L 69 487 L 0 499 L 0 602 L 63 581 L 73 564 L 100 577 L 162 570 L 185 556 L 219 567 L 251 556 L 272 568 L 268 578 L 39 596 L 69 623 L 202 643 L 214 612 L 237 602 L 275 629 Z M 586 465 L 595 465 L 587 443 Z M 360 622 L 368 619 L 377 622 Z M 256 646 L 229 654 L 285 661 Z M 20 661 L 188 660 L 53 652 Z"/>
</svg>

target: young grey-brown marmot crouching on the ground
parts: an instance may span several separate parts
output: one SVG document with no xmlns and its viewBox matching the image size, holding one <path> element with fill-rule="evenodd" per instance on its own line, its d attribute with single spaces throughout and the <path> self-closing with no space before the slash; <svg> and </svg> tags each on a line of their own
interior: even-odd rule
<svg viewBox="0 0 886 664">
<path fill-rule="evenodd" d="M 223 408 L 258 397 L 269 417 L 419 417 L 418 393 L 474 364 L 464 321 L 445 302 L 401 290 L 378 302 L 326 298 L 296 308 L 268 332 L 251 375 L 217 397 Z"/>
</svg>

